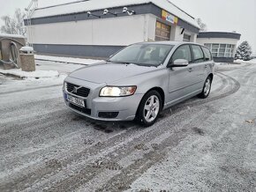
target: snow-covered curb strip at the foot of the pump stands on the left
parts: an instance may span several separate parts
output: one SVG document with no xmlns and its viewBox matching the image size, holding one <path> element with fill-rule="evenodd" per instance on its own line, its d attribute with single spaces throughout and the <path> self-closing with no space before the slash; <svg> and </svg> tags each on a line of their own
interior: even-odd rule
<svg viewBox="0 0 256 192">
<path fill-rule="evenodd" d="M 0 70 L 4 75 L 11 75 L 18 78 L 56 78 L 59 73 L 56 70 L 35 70 L 32 72 L 22 71 L 20 69 Z"/>
</svg>

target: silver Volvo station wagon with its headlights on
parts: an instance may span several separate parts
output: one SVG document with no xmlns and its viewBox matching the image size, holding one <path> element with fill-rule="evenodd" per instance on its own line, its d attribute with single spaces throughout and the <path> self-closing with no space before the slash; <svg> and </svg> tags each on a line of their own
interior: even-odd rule
<svg viewBox="0 0 256 192">
<path fill-rule="evenodd" d="M 154 124 L 163 109 L 196 95 L 207 98 L 214 78 L 208 48 L 187 42 L 143 42 L 64 79 L 64 101 L 102 121 Z"/>
</svg>

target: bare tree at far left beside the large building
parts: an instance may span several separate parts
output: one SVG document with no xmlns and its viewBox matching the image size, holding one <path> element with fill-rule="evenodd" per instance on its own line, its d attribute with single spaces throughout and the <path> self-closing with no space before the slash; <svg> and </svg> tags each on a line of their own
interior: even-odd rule
<svg viewBox="0 0 256 192">
<path fill-rule="evenodd" d="M 15 11 L 13 18 L 10 16 L 3 16 L 1 19 L 4 21 L 4 26 L 1 26 L 1 33 L 9 34 L 26 34 L 26 27 L 24 26 L 24 18 L 26 14 L 20 9 Z"/>
</svg>

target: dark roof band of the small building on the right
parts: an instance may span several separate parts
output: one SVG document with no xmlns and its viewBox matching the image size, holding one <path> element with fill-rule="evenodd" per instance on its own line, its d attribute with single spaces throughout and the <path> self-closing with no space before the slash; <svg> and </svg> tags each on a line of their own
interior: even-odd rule
<svg viewBox="0 0 256 192">
<path fill-rule="evenodd" d="M 200 32 L 198 38 L 227 38 L 240 40 L 241 34 L 230 32 Z"/>
</svg>

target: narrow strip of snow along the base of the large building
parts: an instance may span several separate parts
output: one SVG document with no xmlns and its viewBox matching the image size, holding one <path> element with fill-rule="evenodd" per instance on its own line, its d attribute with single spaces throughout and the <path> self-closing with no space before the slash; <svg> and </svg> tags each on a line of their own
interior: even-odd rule
<svg viewBox="0 0 256 192">
<path fill-rule="evenodd" d="M 49 55 L 34 55 L 34 58 L 36 60 L 41 60 L 41 61 L 60 62 L 60 63 L 77 63 L 77 64 L 84 64 L 84 65 L 102 62 L 102 60 L 49 56 Z"/>
</svg>

